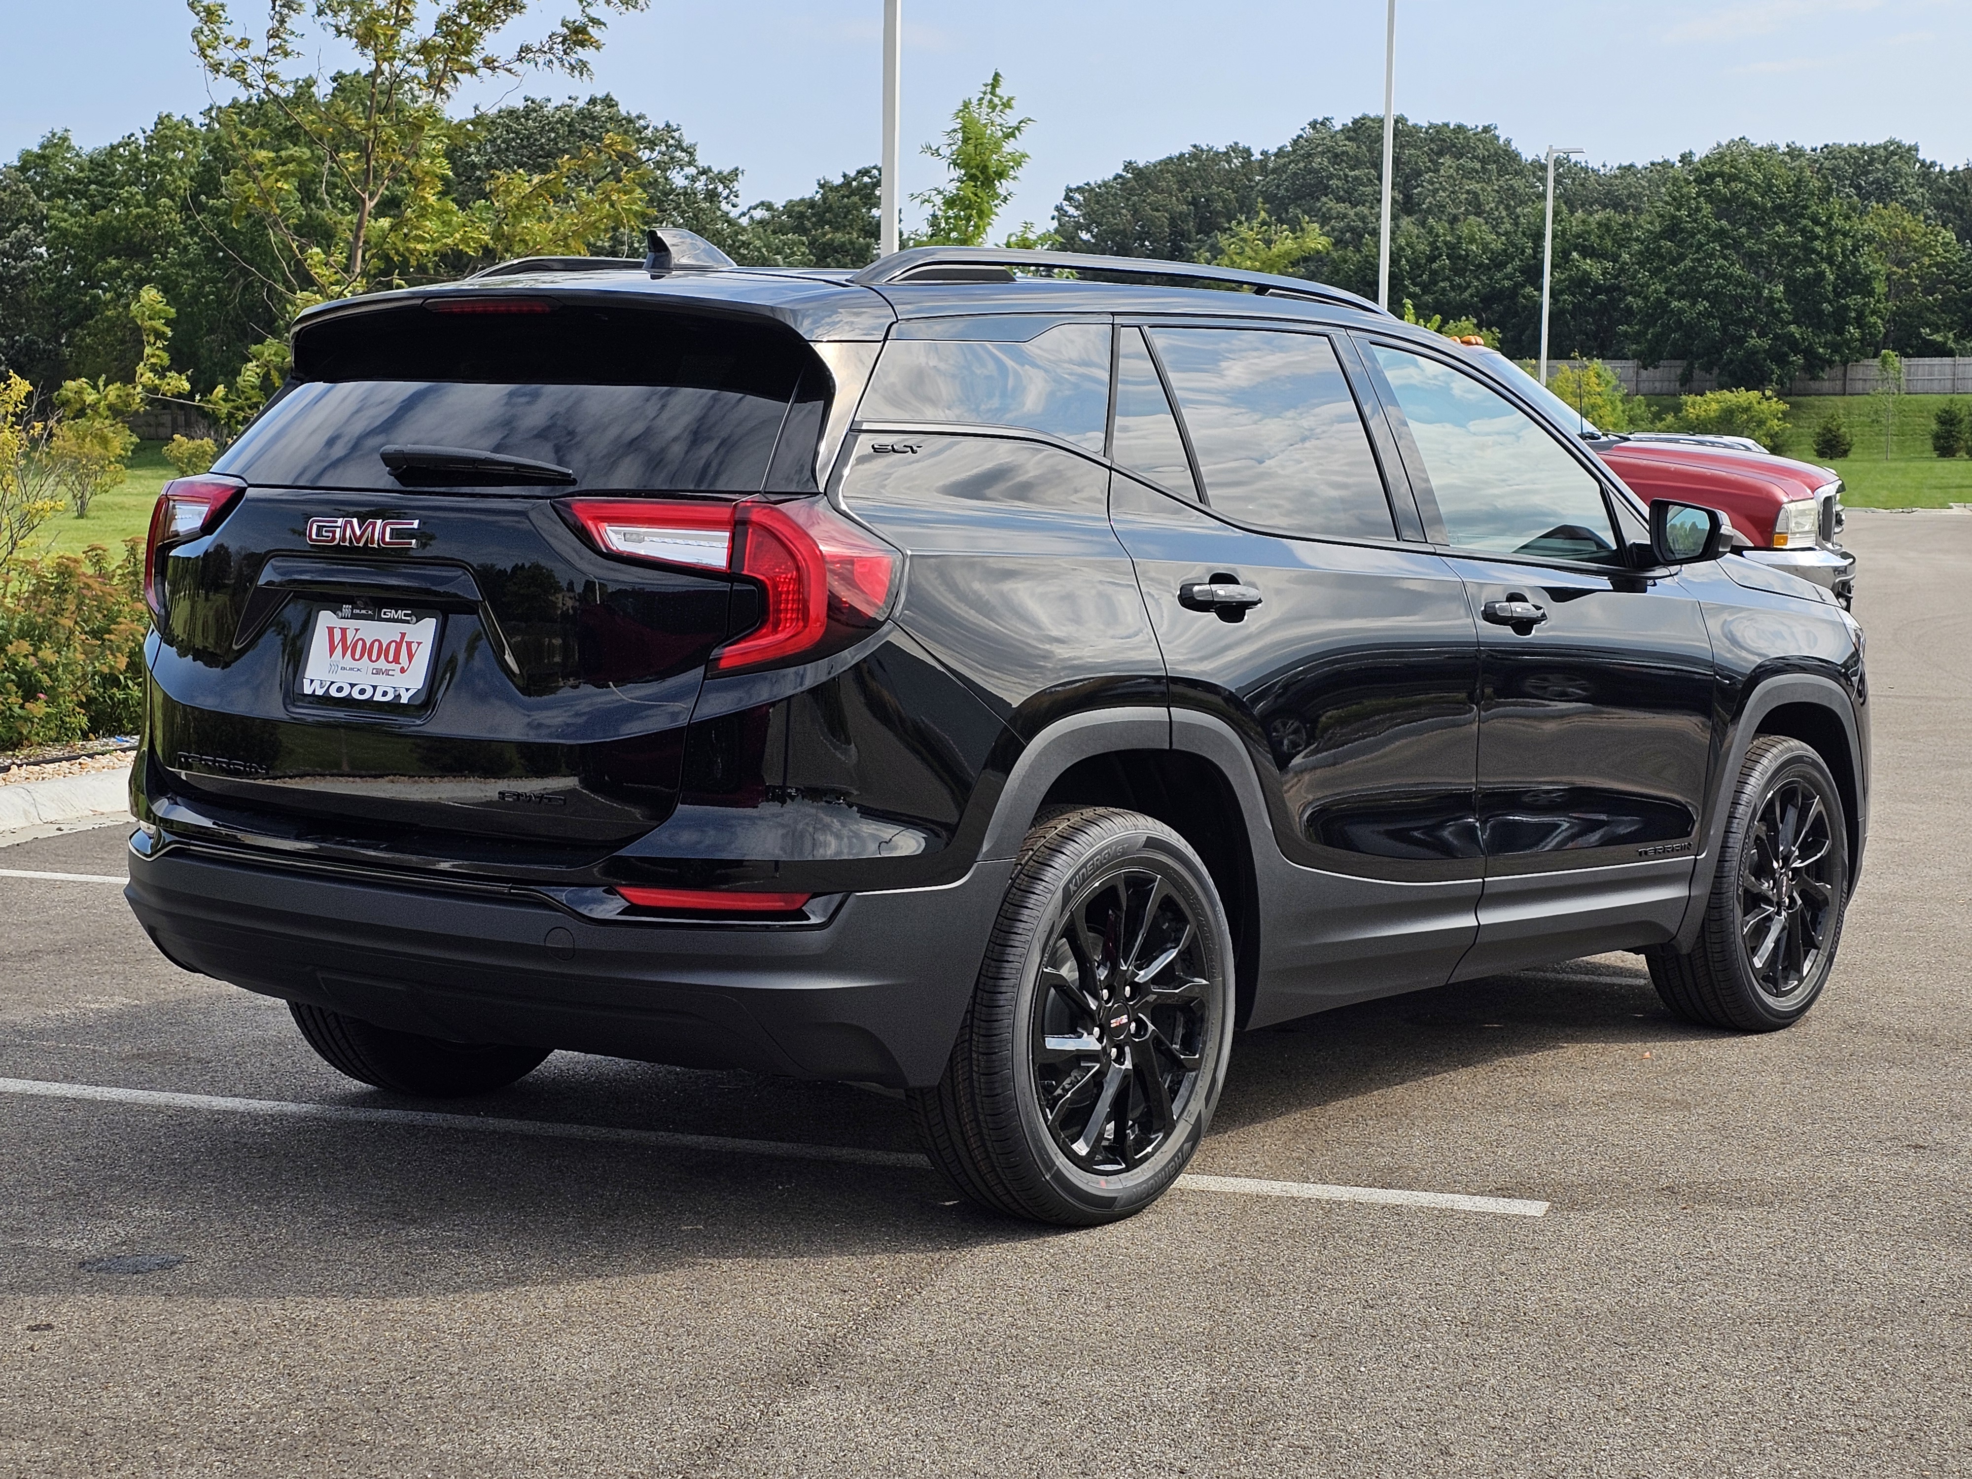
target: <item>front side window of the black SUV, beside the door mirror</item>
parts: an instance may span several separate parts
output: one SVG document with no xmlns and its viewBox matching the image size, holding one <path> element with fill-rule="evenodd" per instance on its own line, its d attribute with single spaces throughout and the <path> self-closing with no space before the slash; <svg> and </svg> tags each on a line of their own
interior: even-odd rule
<svg viewBox="0 0 1972 1479">
<path fill-rule="evenodd" d="M 1373 345 L 1445 523 L 1465 550 L 1621 562 L 1601 485 L 1554 434 L 1471 375 Z"/>
</svg>

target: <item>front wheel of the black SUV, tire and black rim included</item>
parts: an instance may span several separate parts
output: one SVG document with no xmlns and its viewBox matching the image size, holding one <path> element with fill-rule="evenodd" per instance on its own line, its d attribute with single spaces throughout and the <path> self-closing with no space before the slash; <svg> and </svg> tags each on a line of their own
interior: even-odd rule
<svg viewBox="0 0 1972 1479">
<path fill-rule="evenodd" d="M 1645 951 L 1651 980 L 1686 1021 L 1789 1027 L 1828 984 L 1846 907 L 1842 793 L 1814 749 L 1761 736 L 1739 767 L 1698 941 L 1688 954 Z"/>
</svg>

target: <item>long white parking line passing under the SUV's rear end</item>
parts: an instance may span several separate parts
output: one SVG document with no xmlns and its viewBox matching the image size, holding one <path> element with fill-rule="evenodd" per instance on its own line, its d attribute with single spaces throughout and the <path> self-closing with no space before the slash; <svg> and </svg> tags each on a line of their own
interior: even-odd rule
<svg viewBox="0 0 1972 1479">
<path fill-rule="evenodd" d="M 566 1124 L 558 1120 L 511 1120 L 491 1114 L 438 1114 L 432 1110 L 381 1110 L 353 1104 L 304 1104 L 286 1098 L 229 1098 L 221 1094 L 172 1094 L 158 1089 L 112 1089 L 89 1083 L 47 1083 L 41 1079 L 0 1079 L 0 1094 L 35 1098 L 87 1098 L 105 1104 L 146 1108 L 207 1110 L 215 1114 L 260 1114 L 284 1120 L 329 1120 L 335 1124 L 402 1124 L 418 1130 L 477 1130 L 479 1134 L 534 1136 L 538 1140 L 601 1140 L 667 1150 L 712 1150 L 728 1156 L 771 1156 L 777 1160 L 832 1162 L 838 1165 L 897 1165 L 929 1169 L 931 1162 L 907 1150 L 860 1150 L 854 1146 L 809 1146 L 791 1140 L 738 1140 L 694 1136 L 678 1130 L 631 1130 L 615 1124 Z M 1513 1197 L 1463 1197 L 1447 1191 L 1388 1191 L 1382 1187 L 1329 1187 L 1313 1181 L 1262 1181 L 1246 1175 L 1177 1177 L 1185 1191 L 1223 1191 L 1242 1197 L 1296 1197 L 1302 1201 L 1359 1201 L 1382 1207 L 1440 1207 L 1455 1213 L 1495 1213 L 1503 1217 L 1546 1217 L 1548 1203 Z"/>
</svg>

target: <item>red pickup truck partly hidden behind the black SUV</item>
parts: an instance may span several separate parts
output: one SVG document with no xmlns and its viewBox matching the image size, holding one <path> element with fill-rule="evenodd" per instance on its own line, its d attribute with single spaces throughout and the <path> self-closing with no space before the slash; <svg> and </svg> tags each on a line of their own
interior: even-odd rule
<svg viewBox="0 0 1972 1479">
<path fill-rule="evenodd" d="M 1842 477 L 1834 467 L 1775 458 L 1745 438 L 1603 432 L 1497 349 L 1467 349 L 1509 375 L 1564 426 L 1574 426 L 1645 503 L 1678 499 L 1718 509 L 1749 540 L 1741 556 L 1812 580 L 1842 605 L 1850 603 L 1856 556 L 1836 540 Z"/>
</svg>

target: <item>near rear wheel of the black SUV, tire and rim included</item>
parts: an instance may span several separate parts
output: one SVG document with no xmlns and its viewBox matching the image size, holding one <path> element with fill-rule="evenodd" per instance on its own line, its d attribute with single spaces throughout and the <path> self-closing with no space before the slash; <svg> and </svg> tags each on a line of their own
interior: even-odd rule
<svg viewBox="0 0 1972 1479">
<path fill-rule="evenodd" d="M 1197 852 L 1083 807 L 1025 838 L 937 1089 L 931 1162 L 972 1201 L 1091 1227 L 1185 1169 L 1232 1049 L 1232 933 Z"/>
</svg>

